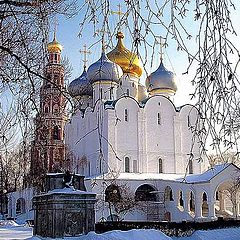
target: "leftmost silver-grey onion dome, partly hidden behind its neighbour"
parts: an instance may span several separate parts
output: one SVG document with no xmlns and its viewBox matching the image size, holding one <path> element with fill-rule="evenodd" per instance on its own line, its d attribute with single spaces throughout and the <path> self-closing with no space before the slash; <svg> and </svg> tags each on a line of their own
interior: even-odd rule
<svg viewBox="0 0 240 240">
<path fill-rule="evenodd" d="M 86 68 L 84 67 L 83 73 L 80 77 L 73 80 L 68 86 L 68 92 L 73 98 L 80 96 L 92 96 L 92 86 L 87 78 Z"/>
</svg>

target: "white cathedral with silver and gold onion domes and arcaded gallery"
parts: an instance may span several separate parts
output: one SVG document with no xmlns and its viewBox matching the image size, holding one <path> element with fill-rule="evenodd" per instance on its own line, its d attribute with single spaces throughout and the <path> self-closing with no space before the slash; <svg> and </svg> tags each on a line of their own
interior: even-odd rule
<svg viewBox="0 0 240 240">
<path fill-rule="evenodd" d="M 209 168 L 194 133 L 201 127 L 198 110 L 173 104 L 175 75 L 161 59 L 142 85 L 141 62 L 123 38 L 118 32 L 115 49 L 106 54 L 103 47 L 68 86 L 75 111 L 65 125 L 67 158 L 71 172 L 84 175 L 87 191 L 97 194 L 96 221 L 239 217 L 240 169 Z M 28 213 L 32 195 L 32 189 L 10 193 L 8 216 Z"/>
</svg>

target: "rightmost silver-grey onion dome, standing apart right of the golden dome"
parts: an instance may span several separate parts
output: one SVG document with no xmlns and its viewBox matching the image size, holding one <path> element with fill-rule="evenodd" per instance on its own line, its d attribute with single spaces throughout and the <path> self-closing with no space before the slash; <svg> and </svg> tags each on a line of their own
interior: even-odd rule
<svg viewBox="0 0 240 240">
<path fill-rule="evenodd" d="M 148 92 L 153 91 L 174 95 L 177 91 L 175 74 L 171 71 L 168 71 L 161 61 L 158 69 L 151 73 L 146 79 L 146 87 Z"/>
</svg>

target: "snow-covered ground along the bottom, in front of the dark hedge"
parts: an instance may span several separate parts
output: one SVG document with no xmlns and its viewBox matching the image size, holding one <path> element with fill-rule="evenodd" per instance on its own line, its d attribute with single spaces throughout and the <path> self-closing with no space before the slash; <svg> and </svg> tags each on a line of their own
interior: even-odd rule
<svg viewBox="0 0 240 240">
<path fill-rule="evenodd" d="M 13 221 L 0 221 L 0 239 L 15 240 L 28 239 L 40 240 L 42 238 L 32 236 L 32 228 L 18 225 Z M 157 230 L 130 230 L 111 231 L 103 234 L 90 232 L 79 237 L 68 237 L 66 240 L 240 240 L 240 228 L 226 228 L 209 231 L 196 231 L 190 237 L 168 237 Z M 50 238 L 48 238 L 50 240 Z"/>
</svg>

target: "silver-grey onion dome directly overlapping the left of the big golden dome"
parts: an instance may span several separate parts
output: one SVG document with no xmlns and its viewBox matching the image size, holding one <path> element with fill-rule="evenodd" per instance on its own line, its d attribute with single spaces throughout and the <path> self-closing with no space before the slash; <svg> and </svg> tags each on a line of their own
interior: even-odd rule
<svg viewBox="0 0 240 240">
<path fill-rule="evenodd" d="M 98 81 L 111 81 L 119 83 L 123 75 L 122 69 L 116 63 L 111 62 L 103 51 L 100 59 L 90 65 L 87 70 L 87 77 L 90 83 Z"/>
</svg>

